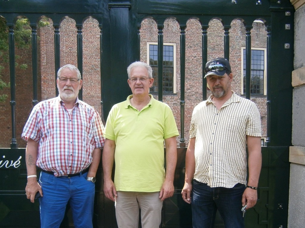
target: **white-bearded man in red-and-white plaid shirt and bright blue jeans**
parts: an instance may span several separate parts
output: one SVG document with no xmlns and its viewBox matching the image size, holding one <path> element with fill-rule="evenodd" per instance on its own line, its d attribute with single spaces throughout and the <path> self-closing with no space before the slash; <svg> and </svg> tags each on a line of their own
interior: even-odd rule
<svg viewBox="0 0 305 228">
<path fill-rule="evenodd" d="M 24 126 L 27 141 L 27 198 L 39 192 L 41 227 L 59 227 L 69 201 L 74 226 L 92 227 L 95 174 L 104 145 L 99 113 L 78 99 L 81 73 L 58 70 L 59 96 L 34 106 Z M 42 172 L 37 182 L 36 166 Z"/>
</svg>

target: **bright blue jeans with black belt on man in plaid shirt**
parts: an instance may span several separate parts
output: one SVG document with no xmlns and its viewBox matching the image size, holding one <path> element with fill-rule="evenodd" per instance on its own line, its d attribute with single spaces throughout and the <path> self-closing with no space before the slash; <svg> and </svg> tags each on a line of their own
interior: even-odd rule
<svg viewBox="0 0 305 228">
<path fill-rule="evenodd" d="M 73 177 L 55 177 L 41 172 L 39 184 L 43 193 L 43 197 L 39 198 L 41 227 L 58 228 L 68 202 L 74 227 L 93 227 L 95 184 L 87 180 L 87 173 Z"/>
</svg>

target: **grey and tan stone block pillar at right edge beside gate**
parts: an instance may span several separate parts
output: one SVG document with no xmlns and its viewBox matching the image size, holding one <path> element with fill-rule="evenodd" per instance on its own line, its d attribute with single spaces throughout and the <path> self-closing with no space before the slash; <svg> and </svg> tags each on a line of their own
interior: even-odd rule
<svg viewBox="0 0 305 228">
<path fill-rule="evenodd" d="M 288 228 L 305 225 L 305 0 L 291 0 L 294 14 L 294 71 L 292 72 L 292 147 L 289 151 L 290 187 Z M 302 208 L 298 210 L 297 208 Z"/>
</svg>

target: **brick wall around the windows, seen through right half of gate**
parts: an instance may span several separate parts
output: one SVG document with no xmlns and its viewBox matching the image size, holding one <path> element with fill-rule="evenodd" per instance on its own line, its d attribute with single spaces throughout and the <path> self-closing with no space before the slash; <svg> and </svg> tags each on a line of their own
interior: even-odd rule
<svg viewBox="0 0 305 228">
<path fill-rule="evenodd" d="M 251 30 L 252 47 L 266 48 L 267 34 L 264 24 L 253 23 Z M 142 21 L 141 35 L 141 60 L 146 62 L 146 42 L 157 42 L 157 26 L 154 20 L 145 19 Z M 239 20 L 231 23 L 230 35 L 230 63 L 234 74 L 232 87 L 236 94 L 241 95 L 242 70 L 241 70 L 241 47 L 245 47 L 245 27 Z M 185 29 L 186 53 L 185 53 L 185 142 L 188 144 L 189 126 L 194 107 L 202 101 L 202 29 L 199 21 L 190 19 Z M 208 60 L 224 56 L 224 30 L 219 20 L 211 20 L 208 35 Z M 176 43 L 177 58 L 177 93 L 164 94 L 163 102 L 170 105 L 176 117 L 177 126 L 180 132 L 180 29 L 174 19 L 167 19 L 164 22 L 163 42 Z M 208 92 L 208 95 L 210 93 Z M 158 98 L 158 94 L 154 94 Z M 263 137 L 267 134 L 266 124 L 266 96 L 251 96 L 261 113 Z M 180 137 L 177 142 L 179 143 Z"/>
</svg>

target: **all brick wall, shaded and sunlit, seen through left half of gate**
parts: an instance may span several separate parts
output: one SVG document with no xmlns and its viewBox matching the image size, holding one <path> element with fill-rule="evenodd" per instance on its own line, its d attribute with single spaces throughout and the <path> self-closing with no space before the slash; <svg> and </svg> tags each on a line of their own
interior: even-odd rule
<svg viewBox="0 0 305 228">
<path fill-rule="evenodd" d="M 50 26 L 38 29 L 40 44 L 38 45 L 38 101 L 55 97 L 56 73 L 54 67 L 54 27 L 52 20 Z M 74 20 L 64 19 L 60 25 L 60 66 L 74 64 L 77 66 L 77 28 Z M 101 114 L 101 80 L 100 80 L 100 47 L 99 24 L 95 19 L 89 18 L 83 26 L 83 100 L 92 105 Z M 33 85 L 31 68 L 31 49 L 17 50 L 19 62 L 27 63 L 26 70 L 16 68 L 16 139 L 19 148 L 26 147 L 21 139 L 23 126 L 32 109 Z M 9 82 L 8 63 L 3 64 L 3 80 Z M 10 90 L 1 91 L 9 95 L 4 104 L 0 105 L 0 147 L 10 147 L 12 139 L 12 123 L 10 108 Z"/>
</svg>

